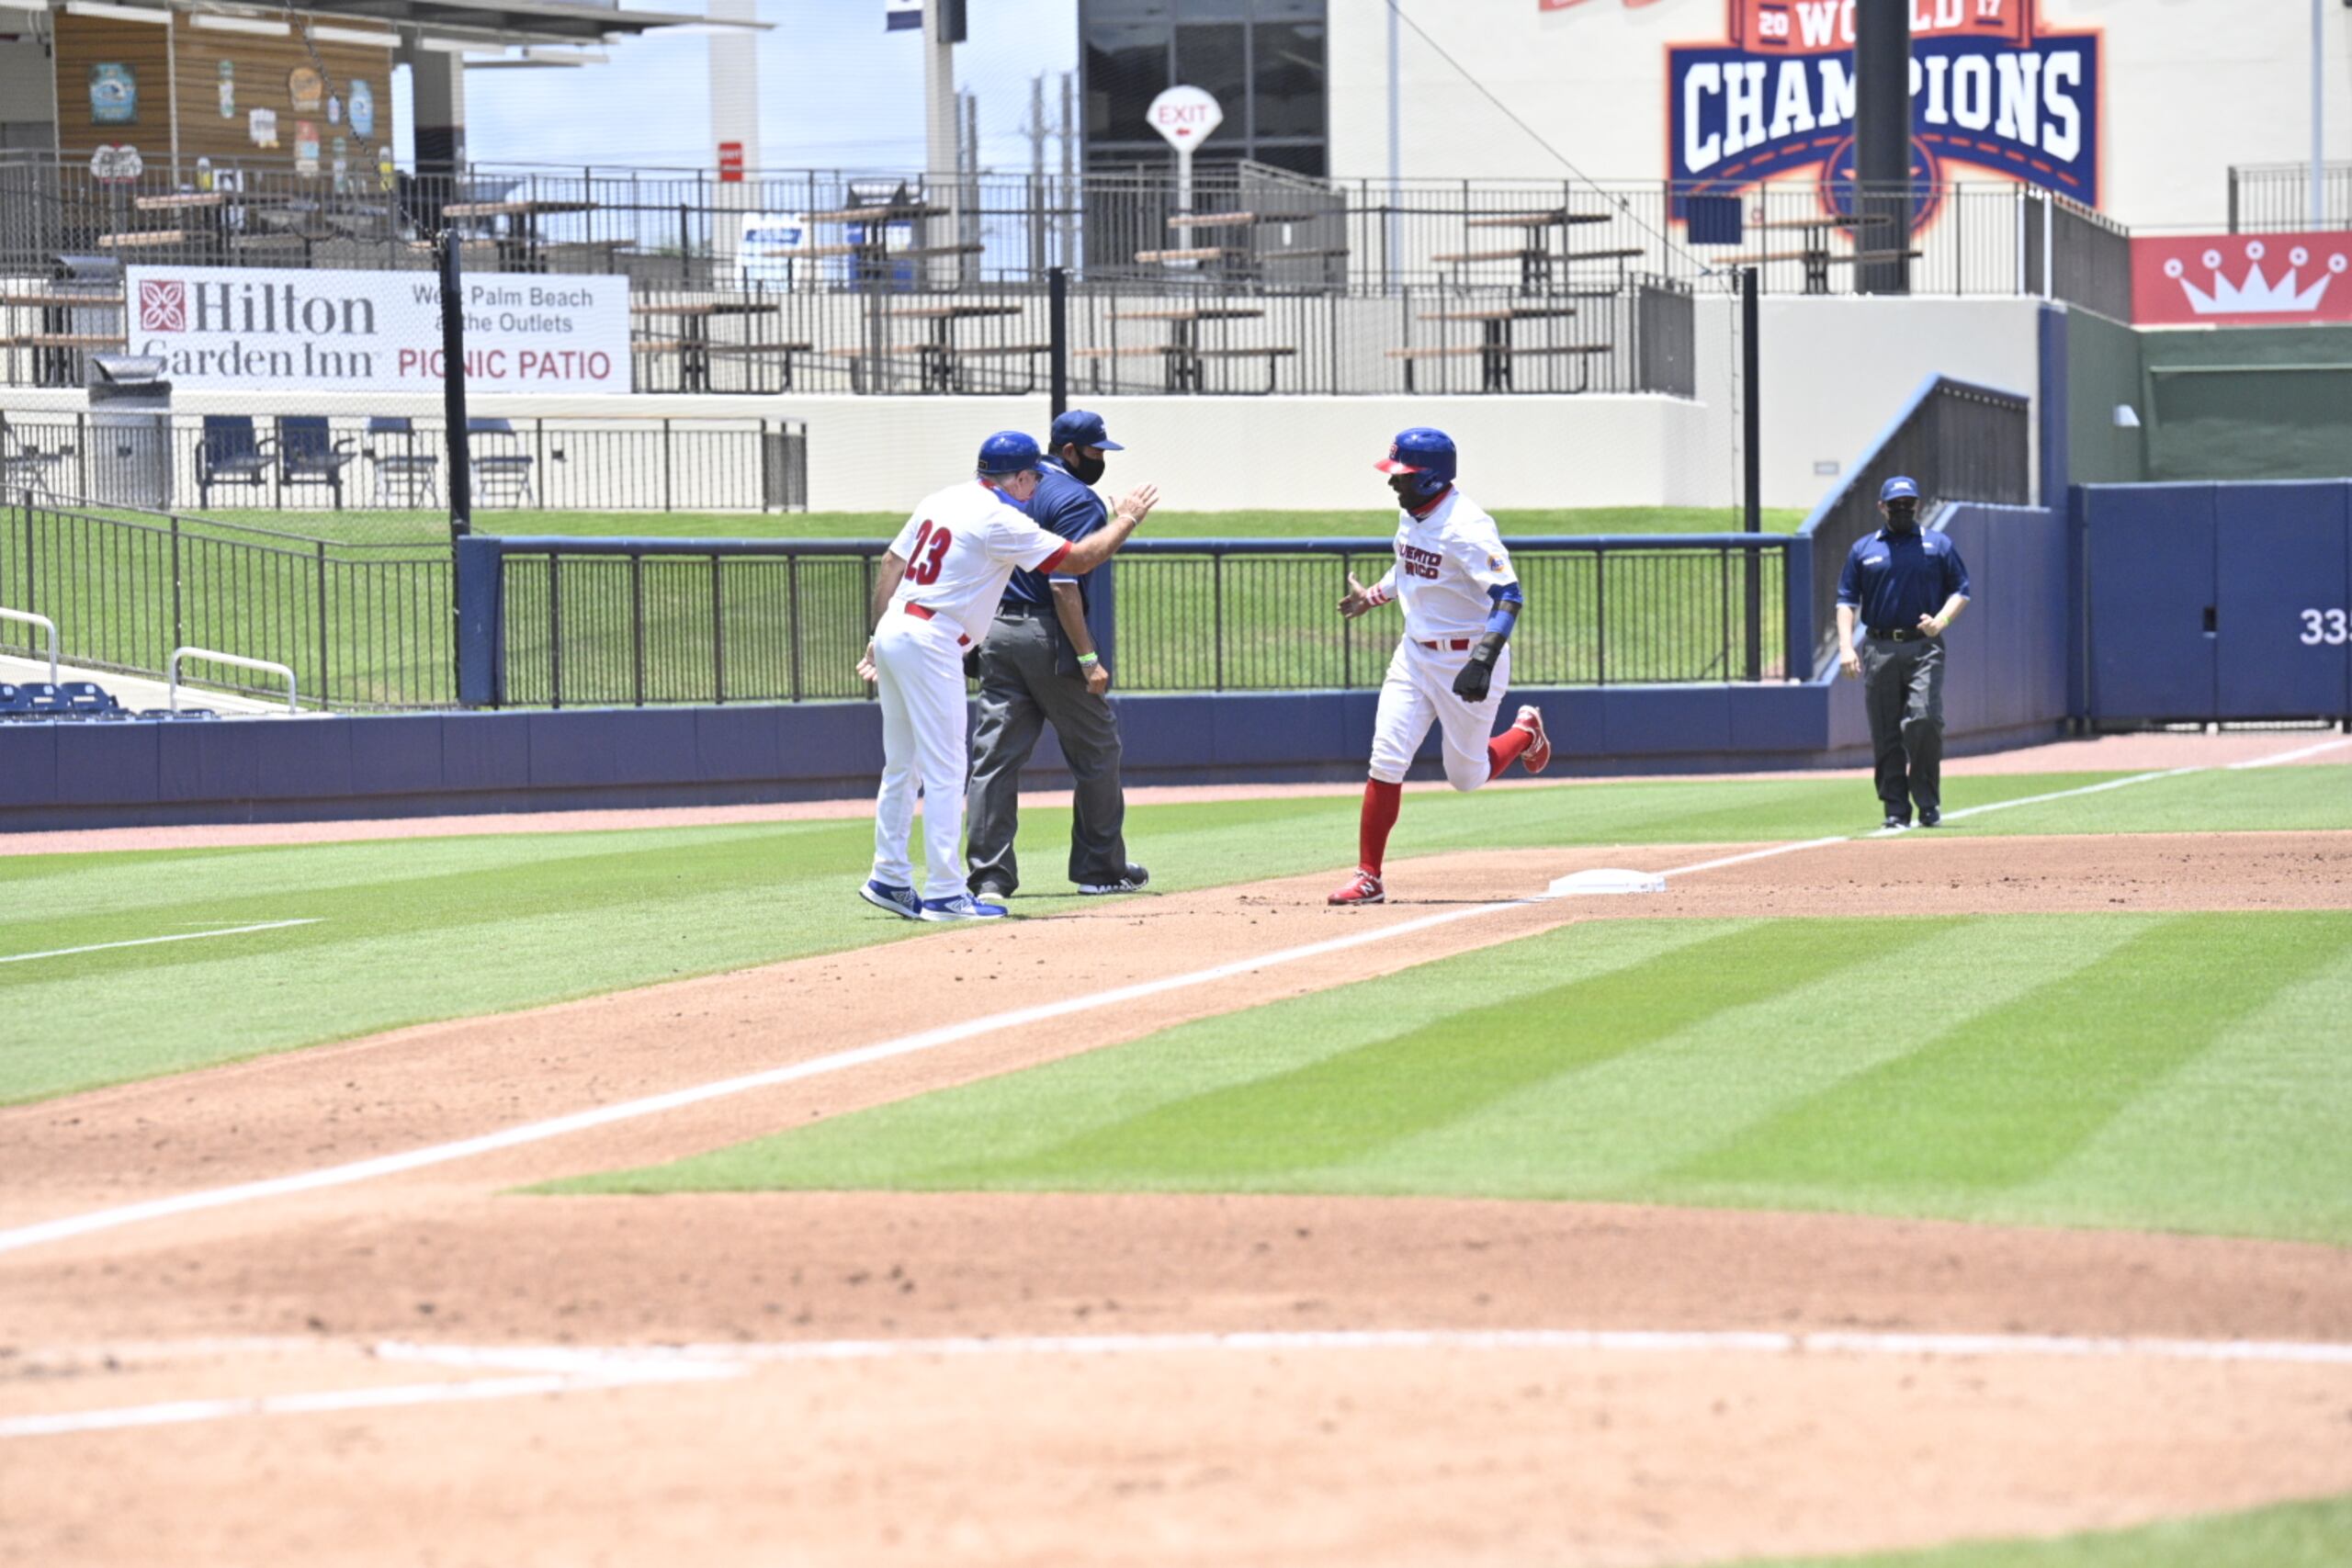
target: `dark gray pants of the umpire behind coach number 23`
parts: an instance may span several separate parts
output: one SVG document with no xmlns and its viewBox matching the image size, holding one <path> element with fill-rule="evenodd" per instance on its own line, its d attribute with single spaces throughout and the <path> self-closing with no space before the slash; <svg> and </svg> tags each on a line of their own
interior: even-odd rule
<svg viewBox="0 0 2352 1568">
<path fill-rule="evenodd" d="M 1037 736 L 1054 726 L 1077 785 L 1070 823 L 1070 882 L 1127 875 L 1127 795 L 1120 790 L 1120 722 L 1084 677 L 1056 672 L 1061 628 L 1054 611 L 1000 614 L 981 642 L 981 724 L 971 736 L 969 882 L 1021 886 L 1014 835 L 1021 830 L 1021 769 Z"/>
</svg>

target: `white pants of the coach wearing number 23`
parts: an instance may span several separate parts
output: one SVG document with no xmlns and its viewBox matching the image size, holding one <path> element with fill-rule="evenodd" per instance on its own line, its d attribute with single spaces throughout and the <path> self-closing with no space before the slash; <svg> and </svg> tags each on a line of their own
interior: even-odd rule
<svg viewBox="0 0 2352 1568">
<path fill-rule="evenodd" d="M 922 790 L 924 898 L 964 891 L 964 649 L 946 621 L 891 611 L 875 630 L 882 696 L 882 795 L 875 799 L 875 882 L 910 886 L 908 835 Z"/>
</svg>

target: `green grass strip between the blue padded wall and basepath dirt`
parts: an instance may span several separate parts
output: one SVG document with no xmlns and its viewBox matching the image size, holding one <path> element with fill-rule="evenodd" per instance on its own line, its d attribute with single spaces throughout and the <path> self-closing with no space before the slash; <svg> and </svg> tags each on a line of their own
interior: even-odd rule
<svg viewBox="0 0 2352 1568">
<path fill-rule="evenodd" d="M 2345 769 L 2199 773 L 1990 813 L 1947 832 L 2352 827 Z M 1955 778 L 1950 809 L 2098 776 Z M 1162 891 L 1345 870 L 1357 802 L 1138 806 Z M 1515 844 L 1780 842 L 1875 825 L 1851 780 L 1416 790 L 1397 853 Z M 849 893 L 866 820 L 0 858 L 0 957 L 223 929 L 310 926 L 0 964 L 0 1103 L 898 940 Z M 1023 813 L 1023 914 L 1075 907 L 1065 811 Z M 496 952 L 496 966 L 459 961 Z M 334 985 L 320 985 L 334 976 Z M 419 976 L 430 976 L 421 985 Z M 169 985 L 172 1006 L 153 1004 Z M 71 1041 L 71 1044 L 59 1044 Z"/>
</svg>

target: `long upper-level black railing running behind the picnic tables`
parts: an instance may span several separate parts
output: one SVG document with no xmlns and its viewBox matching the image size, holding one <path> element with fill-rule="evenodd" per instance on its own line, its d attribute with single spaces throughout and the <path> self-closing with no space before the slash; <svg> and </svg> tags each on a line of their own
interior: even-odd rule
<svg viewBox="0 0 2352 1568">
<path fill-rule="evenodd" d="M 221 195 L 188 205 L 191 195 Z M 936 292 L 995 277 L 1044 287 L 1209 277 L 1244 292 L 1508 287 L 1552 294 L 1646 273 L 1693 282 L 1771 256 L 1766 292 L 1851 292 L 1856 240 L 1811 188 L 1736 197 L 1740 226 L 1693 242 L 1715 186 L 1668 181 L 1327 181 L 1204 165 L 1192 200 L 1167 169 L 1030 174 L 762 172 L 468 165 L 459 174 L 303 179 L 158 155 L 132 181 L 80 160 L 0 153 L 0 275 L 61 254 L 212 266 L 428 268 L 426 235 L 468 235 L 468 273 L 626 273 L 649 289 Z M 2023 193 L 2023 197 L 2020 197 Z M 1936 223 L 1910 244 L 1917 294 L 2020 294 L 2023 202 L 2009 181 L 1919 186 Z M 179 197 L 179 200 L 172 200 Z M 1867 193 L 1865 193 L 1867 197 Z M 1853 190 L 1839 190 L 1853 202 Z M 496 212 L 492 212 L 496 209 Z M 1865 242 L 1886 249 L 1891 242 Z"/>
</svg>

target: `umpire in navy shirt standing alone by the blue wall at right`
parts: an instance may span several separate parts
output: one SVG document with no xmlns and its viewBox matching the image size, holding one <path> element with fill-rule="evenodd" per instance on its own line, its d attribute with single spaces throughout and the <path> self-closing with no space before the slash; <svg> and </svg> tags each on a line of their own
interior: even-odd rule
<svg viewBox="0 0 2352 1568">
<path fill-rule="evenodd" d="M 1969 569 L 1943 534 L 1919 529 L 1919 487 L 1879 489 L 1886 527 L 1865 534 L 1837 578 L 1837 663 L 1863 682 L 1870 750 L 1889 827 L 1943 820 L 1943 632 L 1969 607 Z M 1856 649 L 1853 625 L 1863 642 Z"/>
</svg>

